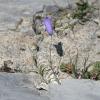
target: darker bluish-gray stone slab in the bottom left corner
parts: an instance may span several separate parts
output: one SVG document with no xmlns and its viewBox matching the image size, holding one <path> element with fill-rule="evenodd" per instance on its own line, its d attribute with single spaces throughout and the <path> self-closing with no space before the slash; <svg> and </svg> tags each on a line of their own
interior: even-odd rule
<svg viewBox="0 0 100 100">
<path fill-rule="evenodd" d="M 26 74 L 0 73 L 1 100 L 49 100 L 41 95 Z"/>
</svg>

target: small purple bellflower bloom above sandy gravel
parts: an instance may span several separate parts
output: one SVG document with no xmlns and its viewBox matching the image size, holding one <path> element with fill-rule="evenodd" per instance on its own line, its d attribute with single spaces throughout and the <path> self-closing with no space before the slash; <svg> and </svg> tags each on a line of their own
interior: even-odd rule
<svg viewBox="0 0 100 100">
<path fill-rule="evenodd" d="M 52 20 L 50 17 L 45 17 L 43 20 L 43 24 L 45 25 L 45 29 L 50 36 L 53 35 L 53 27 L 52 27 Z"/>
</svg>

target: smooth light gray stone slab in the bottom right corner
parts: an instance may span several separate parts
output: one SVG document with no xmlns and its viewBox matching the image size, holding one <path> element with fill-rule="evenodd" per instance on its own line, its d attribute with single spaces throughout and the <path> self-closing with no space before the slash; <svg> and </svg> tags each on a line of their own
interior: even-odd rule
<svg viewBox="0 0 100 100">
<path fill-rule="evenodd" d="M 100 83 L 90 80 L 62 80 L 61 85 L 50 85 L 51 100 L 99 100 Z"/>
</svg>

